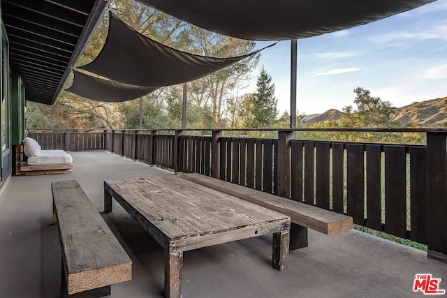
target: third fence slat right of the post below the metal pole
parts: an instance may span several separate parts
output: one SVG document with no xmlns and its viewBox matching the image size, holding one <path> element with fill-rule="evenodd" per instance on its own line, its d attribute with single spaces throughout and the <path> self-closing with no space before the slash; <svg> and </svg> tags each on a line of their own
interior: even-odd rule
<svg viewBox="0 0 447 298">
<path fill-rule="evenodd" d="M 316 206 L 329 209 L 330 143 L 317 142 L 316 146 Z"/>
</svg>

